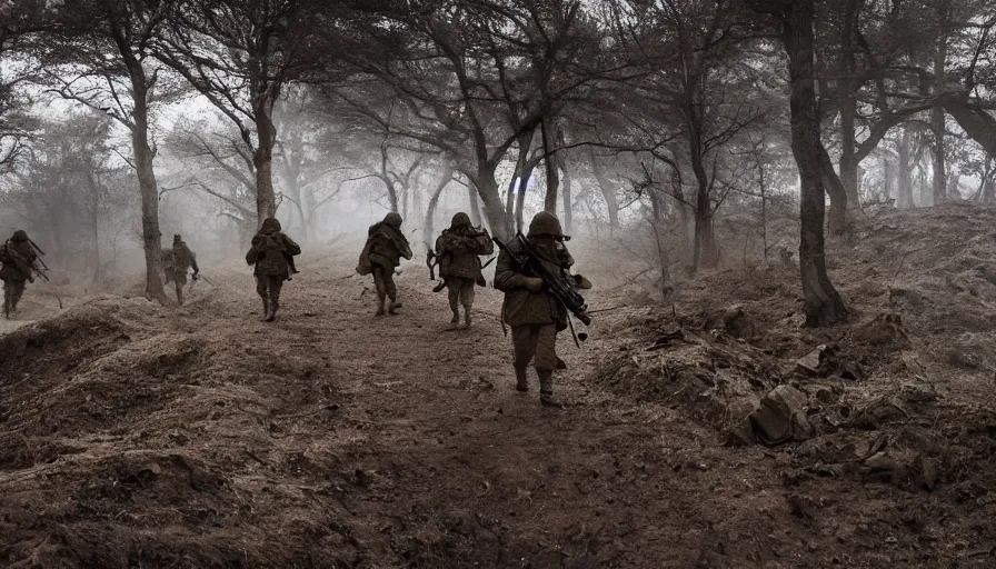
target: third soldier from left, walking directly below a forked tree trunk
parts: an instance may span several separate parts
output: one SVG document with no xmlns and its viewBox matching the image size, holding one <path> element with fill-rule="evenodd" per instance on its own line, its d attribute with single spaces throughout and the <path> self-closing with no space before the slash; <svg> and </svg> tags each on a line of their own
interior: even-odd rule
<svg viewBox="0 0 996 569">
<path fill-rule="evenodd" d="M 280 232 L 276 218 L 263 220 L 259 232 L 252 238 L 252 247 L 246 253 L 246 262 L 255 264 L 256 291 L 262 298 L 262 318 L 266 322 L 277 319 L 280 308 L 280 289 L 290 278 L 288 259 L 301 254 L 301 248 L 292 239 Z"/>
</svg>

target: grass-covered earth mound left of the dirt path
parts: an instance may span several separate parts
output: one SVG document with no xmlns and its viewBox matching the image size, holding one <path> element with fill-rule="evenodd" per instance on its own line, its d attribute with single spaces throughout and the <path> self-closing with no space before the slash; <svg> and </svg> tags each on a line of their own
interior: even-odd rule
<svg viewBox="0 0 996 569">
<path fill-rule="evenodd" d="M 287 350 L 253 353 L 168 316 L 143 299 L 99 297 L 0 337 L 0 559 L 8 567 L 342 561 L 342 547 L 272 531 L 335 526 L 341 508 L 312 500 L 302 519 L 286 519 L 280 503 L 305 500 L 310 490 L 251 468 L 281 448 L 281 416 L 309 402 L 313 410 L 298 422 L 320 423 L 329 412 L 311 389 L 269 385 L 317 367 Z M 273 356 L 279 365 L 258 363 Z M 258 377 L 263 368 L 272 379 Z M 250 375 L 272 389 L 245 387 Z M 323 392 L 332 393 L 327 386 Z M 285 406 L 295 412 L 271 412 Z M 209 431 L 221 439 L 201 441 Z M 276 457 L 289 472 L 308 460 L 300 452 Z M 259 537 L 227 530 L 242 525 L 258 525 L 251 533 Z"/>
</svg>

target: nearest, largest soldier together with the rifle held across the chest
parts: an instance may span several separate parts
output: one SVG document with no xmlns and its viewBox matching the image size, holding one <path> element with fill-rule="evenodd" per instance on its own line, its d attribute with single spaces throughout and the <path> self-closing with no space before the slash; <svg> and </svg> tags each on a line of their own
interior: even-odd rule
<svg viewBox="0 0 996 569">
<path fill-rule="evenodd" d="M 539 401 L 562 408 L 554 398 L 554 370 L 558 368 L 557 333 L 567 329 L 568 311 L 586 325 L 590 317 L 575 289 L 591 288 L 580 276 L 569 273 L 574 259 L 564 242 L 570 239 L 556 216 L 537 213 L 529 233 L 511 242 L 495 240 L 501 252 L 495 272 L 495 288 L 505 292 L 502 321 L 511 327 L 516 389 L 528 391 L 529 362 L 539 376 Z"/>
</svg>

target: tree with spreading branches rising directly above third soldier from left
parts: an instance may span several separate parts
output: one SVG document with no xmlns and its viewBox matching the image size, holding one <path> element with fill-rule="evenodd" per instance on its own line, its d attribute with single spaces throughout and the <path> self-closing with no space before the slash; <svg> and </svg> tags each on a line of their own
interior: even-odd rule
<svg viewBox="0 0 996 569">
<path fill-rule="evenodd" d="M 252 156 L 257 224 L 277 213 L 273 112 L 285 89 L 317 71 L 315 41 L 329 4 L 317 0 L 179 0 L 156 57 L 239 130 Z"/>
</svg>

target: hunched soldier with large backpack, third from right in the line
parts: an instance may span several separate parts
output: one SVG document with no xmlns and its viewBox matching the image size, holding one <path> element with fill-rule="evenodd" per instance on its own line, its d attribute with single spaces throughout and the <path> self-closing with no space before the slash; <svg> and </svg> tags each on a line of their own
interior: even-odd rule
<svg viewBox="0 0 996 569">
<path fill-rule="evenodd" d="M 401 308 L 398 302 L 398 288 L 395 286 L 395 268 L 401 264 L 401 257 L 411 259 L 411 247 L 401 232 L 401 216 L 391 211 L 384 221 L 370 226 L 367 243 L 360 253 L 357 272 L 374 274 L 377 287 L 377 316 L 384 316 L 385 299 L 390 299 L 387 311 L 396 315 Z"/>
</svg>

